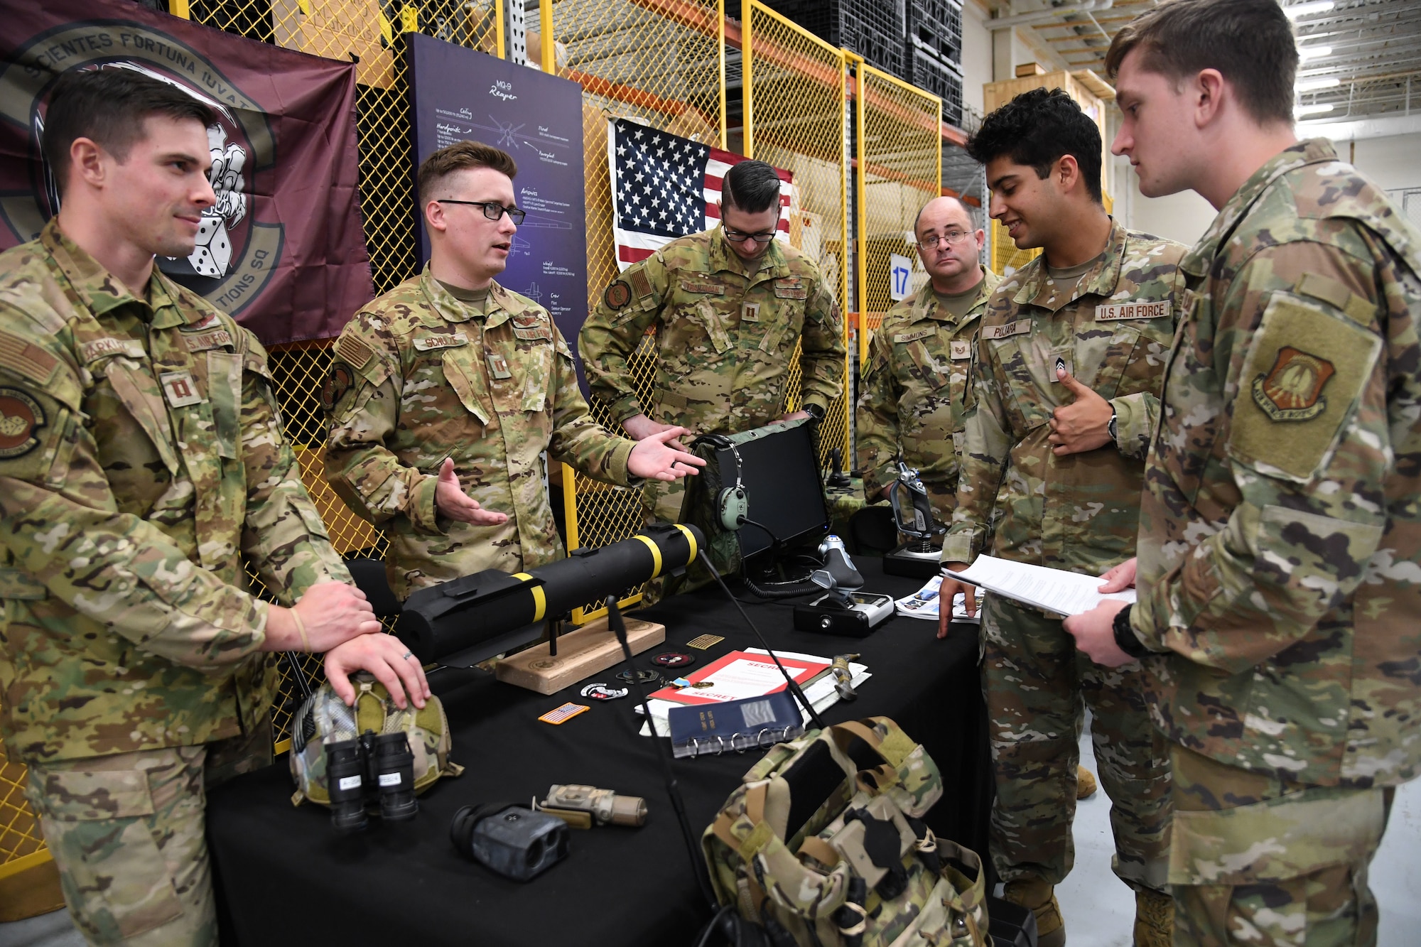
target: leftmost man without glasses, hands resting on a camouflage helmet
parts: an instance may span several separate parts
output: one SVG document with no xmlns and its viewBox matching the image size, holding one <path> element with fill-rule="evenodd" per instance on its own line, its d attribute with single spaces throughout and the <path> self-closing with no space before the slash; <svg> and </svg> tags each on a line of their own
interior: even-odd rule
<svg viewBox="0 0 1421 947">
<path fill-rule="evenodd" d="M 99 109 L 136 139 L 125 161 L 87 137 Z M 64 209 L 0 255 L 0 725 L 80 931 L 216 944 L 203 792 L 271 758 L 266 653 L 328 650 L 350 691 L 360 656 L 406 648 L 362 634 L 379 623 L 301 485 L 266 353 L 152 266 L 215 203 L 210 112 L 99 70 L 61 78 L 48 118 L 71 138 L 45 142 L 70 156 Z M 244 566 L 300 606 L 259 600 Z M 404 675 L 422 704 L 418 663 Z"/>
</svg>

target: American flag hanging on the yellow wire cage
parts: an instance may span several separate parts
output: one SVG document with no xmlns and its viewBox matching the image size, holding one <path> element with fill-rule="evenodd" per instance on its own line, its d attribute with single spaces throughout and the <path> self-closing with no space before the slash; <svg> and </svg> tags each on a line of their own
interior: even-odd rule
<svg viewBox="0 0 1421 947">
<path fill-rule="evenodd" d="M 617 269 L 666 246 L 676 237 L 709 230 L 720 219 L 720 179 L 745 155 L 710 148 L 638 122 L 614 118 L 607 128 L 607 165 L 612 175 L 612 230 Z M 793 176 L 780 175 L 777 239 L 790 239 Z"/>
</svg>

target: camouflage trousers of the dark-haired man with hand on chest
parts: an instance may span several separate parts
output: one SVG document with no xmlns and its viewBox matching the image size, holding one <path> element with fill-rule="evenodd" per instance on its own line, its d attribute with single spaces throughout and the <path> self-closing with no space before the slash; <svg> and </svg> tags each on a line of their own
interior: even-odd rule
<svg viewBox="0 0 1421 947">
<path fill-rule="evenodd" d="M 982 690 L 996 801 L 989 845 L 1003 882 L 1059 884 L 1076 859 L 1076 766 L 1084 708 L 1115 836 L 1111 869 L 1133 889 L 1165 890 L 1169 759 L 1145 715 L 1138 664 L 1106 668 L 1076 651 L 1059 619 L 988 596 Z"/>
</svg>

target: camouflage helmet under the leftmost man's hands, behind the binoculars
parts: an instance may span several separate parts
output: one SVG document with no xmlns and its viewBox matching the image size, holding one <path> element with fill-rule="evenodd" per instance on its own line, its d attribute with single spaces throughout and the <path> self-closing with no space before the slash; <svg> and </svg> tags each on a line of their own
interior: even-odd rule
<svg viewBox="0 0 1421 947">
<path fill-rule="evenodd" d="M 423 710 L 406 704 L 405 710 L 395 707 L 385 685 L 369 674 L 351 678 L 355 685 L 355 705 L 347 707 L 337 697 L 330 683 L 321 684 L 291 722 L 291 778 L 296 792 L 291 805 L 303 801 L 323 806 L 331 805 L 325 785 L 325 744 L 355 739 L 365 731 L 409 735 L 409 749 L 415 754 L 415 793 L 432 786 L 441 776 L 458 776 L 463 766 L 449 759 L 453 742 L 449 737 L 449 718 L 438 697 L 425 701 Z"/>
</svg>

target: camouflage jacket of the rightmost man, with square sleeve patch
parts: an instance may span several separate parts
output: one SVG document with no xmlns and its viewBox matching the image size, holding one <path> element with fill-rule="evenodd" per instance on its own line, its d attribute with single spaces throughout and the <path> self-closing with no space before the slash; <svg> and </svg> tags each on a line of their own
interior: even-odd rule
<svg viewBox="0 0 1421 947">
<path fill-rule="evenodd" d="M 1263 165 L 1179 264 L 1140 519 L 1151 712 L 1316 786 L 1421 761 L 1421 233 L 1326 139 Z"/>
</svg>

